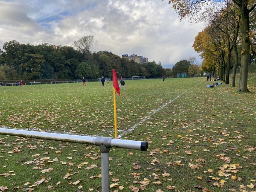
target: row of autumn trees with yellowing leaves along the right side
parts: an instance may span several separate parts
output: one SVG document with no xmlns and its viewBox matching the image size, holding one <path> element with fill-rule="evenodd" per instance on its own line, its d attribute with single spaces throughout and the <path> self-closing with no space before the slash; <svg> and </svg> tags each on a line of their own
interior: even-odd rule
<svg viewBox="0 0 256 192">
<path fill-rule="evenodd" d="M 239 91 L 247 92 L 248 69 L 256 61 L 255 0 L 169 0 L 180 19 L 206 23 L 194 42 L 204 59 L 201 70 L 213 72 L 235 86 L 239 68 Z"/>
</svg>

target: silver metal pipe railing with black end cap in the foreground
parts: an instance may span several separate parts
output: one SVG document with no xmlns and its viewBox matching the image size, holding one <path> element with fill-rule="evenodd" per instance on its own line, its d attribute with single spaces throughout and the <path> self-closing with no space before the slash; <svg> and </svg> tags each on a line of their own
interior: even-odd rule
<svg viewBox="0 0 256 192">
<path fill-rule="evenodd" d="M 39 131 L 25 131 L 8 128 L 0 128 L 0 134 L 18 137 L 30 137 L 36 139 L 64 141 L 70 143 L 93 144 L 100 147 L 101 152 L 101 172 L 102 172 L 102 192 L 109 192 L 109 151 L 111 147 L 148 150 L 148 143 L 144 141 L 119 140 L 111 137 L 90 137 L 68 134 L 45 133 Z"/>
</svg>

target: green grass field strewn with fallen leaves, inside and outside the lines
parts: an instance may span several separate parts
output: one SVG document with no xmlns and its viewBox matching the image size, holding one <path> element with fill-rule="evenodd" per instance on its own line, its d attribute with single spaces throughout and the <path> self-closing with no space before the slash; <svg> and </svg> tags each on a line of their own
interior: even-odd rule
<svg viewBox="0 0 256 192">
<path fill-rule="evenodd" d="M 255 76 L 251 93 L 238 92 L 238 80 L 125 81 L 118 134 L 148 151 L 111 148 L 111 192 L 255 191 Z M 112 84 L 0 87 L 0 98 L 0 127 L 114 137 Z M 97 192 L 100 168 L 97 146 L 0 135 L 3 192 Z"/>
</svg>

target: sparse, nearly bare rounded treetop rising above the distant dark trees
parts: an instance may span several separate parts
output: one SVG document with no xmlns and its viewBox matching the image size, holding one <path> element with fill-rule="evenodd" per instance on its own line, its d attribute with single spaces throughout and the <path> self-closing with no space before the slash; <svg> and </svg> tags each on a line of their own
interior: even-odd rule
<svg viewBox="0 0 256 192">
<path fill-rule="evenodd" d="M 73 46 L 82 54 L 89 54 L 97 45 L 98 41 L 93 35 L 87 35 L 77 41 L 73 41 Z"/>
</svg>

